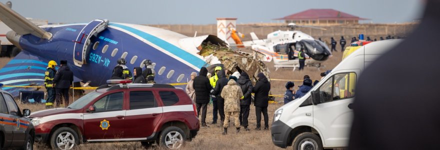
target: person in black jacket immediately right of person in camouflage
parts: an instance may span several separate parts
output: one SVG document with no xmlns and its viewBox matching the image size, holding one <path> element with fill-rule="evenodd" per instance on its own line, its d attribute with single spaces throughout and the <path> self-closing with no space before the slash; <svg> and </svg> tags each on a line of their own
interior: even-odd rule
<svg viewBox="0 0 440 150">
<path fill-rule="evenodd" d="M 247 128 L 247 117 L 249 116 L 249 106 L 251 101 L 251 93 L 252 93 L 252 81 L 249 79 L 249 75 L 246 72 L 242 71 L 240 73 L 240 78 L 237 80 L 238 85 L 241 87 L 241 91 L 243 92 L 243 97 L 240 100 L 240 124 L 244 126 L 244 130 L 249 130 Z"/>
</svg>

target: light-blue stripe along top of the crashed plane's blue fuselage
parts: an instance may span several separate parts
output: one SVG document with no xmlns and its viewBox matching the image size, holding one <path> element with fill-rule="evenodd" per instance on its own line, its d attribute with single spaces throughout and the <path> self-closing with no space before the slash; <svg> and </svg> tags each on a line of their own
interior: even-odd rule
<svg viewBox="0 0 440 150">
<path fill-rule="evenodd" d="M 113 25 L 113 26 L 125 29 L 127 31 L 130 31 L 130 32 L 142 37 L 143 39 L 148 40 L 148 41 L 152 42 L 153 44 L 181 57 L 183 60 L 191 63 L 192 65 L 194 65 L 198 68 L 201 68 L 206 63 L 201 58 L 199 58 L 195 55 L 192 55 L 191 53 L 189 53 L 189 52 L 187 52 L 187 51 L 185 51 L 185 50 L 183 50 L 183 49 L 181 49 L 181 48 L 179 48 L 179 47 L 177 47 L 177 46 L 175 46 L 175 45 L 173 45 L 163 39 L 160 39 L 154 35 L 145 33 L 145 32 L 140 31 L 138 29 L 135 29 L 135 28 L 132 28 L 129 26 L 125 26 L 122 24 L 109 23 L 109 25 Z"/>
</svg>

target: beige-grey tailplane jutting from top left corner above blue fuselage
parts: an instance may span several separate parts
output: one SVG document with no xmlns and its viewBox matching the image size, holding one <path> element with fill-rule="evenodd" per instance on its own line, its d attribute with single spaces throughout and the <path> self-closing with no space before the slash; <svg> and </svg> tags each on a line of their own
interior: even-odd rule
<svg viewBox="0 0 440 150">
<path fill-rule="evenodd" d="M 50 32 L 43 30 L 34 23 L 27 20 L 8 6 L 0 2 L 0 20 L 20 35 L 32 34 L 40 38 L 49 39 L 52 37 Z"/>
</svg>

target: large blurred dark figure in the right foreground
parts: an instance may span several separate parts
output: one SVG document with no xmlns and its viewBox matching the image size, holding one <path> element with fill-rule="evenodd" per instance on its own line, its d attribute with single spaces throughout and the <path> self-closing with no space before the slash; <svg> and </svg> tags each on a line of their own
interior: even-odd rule
<svg viewBox="0 0 440 150">
<path fill-rule="evenodd" d="M 440 0 L 423 3 L 423 18 L 412 33 L 359 76 L 349 149 L 438 148 L 440 51 L 433 47 L 440 33 Z M 424 49 L 426 54 L 414 56 L 414 49 Z M 404 81 L 408 78 L 416 81 L 408 85 Z M 385 89 L 377 88 L 384 83 Z"/>
</svg>

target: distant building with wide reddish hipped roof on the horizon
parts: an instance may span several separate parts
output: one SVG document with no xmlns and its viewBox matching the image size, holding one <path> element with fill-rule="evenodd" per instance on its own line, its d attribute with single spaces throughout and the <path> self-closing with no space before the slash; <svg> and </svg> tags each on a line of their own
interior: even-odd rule
<svg viewBox="0 0 440 150">
<path fill-rule="evenodd" d="M 286 23 L 326 25 L 357 24 L 359 20 L 368 19 L 334 9 L 308 9 L 282 18 L 276 18 L 276 20 L 285 20 Z"/>
</svg>

